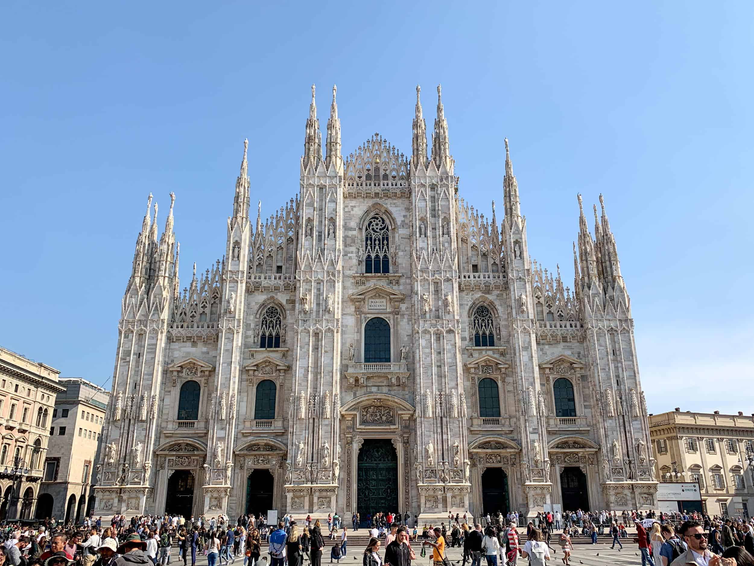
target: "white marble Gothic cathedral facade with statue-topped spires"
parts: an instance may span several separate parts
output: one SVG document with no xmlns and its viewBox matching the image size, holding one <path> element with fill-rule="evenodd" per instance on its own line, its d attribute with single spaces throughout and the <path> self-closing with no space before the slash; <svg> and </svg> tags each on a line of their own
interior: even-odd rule
<svg viewBox="0 0 754 566">
<path fill-rule="evenodd" d="M 580 506 L 655 506 L 604 205 L 594 235 L 580 211 L 570 291 L 530 260 L 507 140 L 500 223 L 460 197 L 437 93 L 431 144 L 417 88 L 410 155 L 379 134 L 342 155 L 335 88 L 324 151 L 312 88 L 299 194 L 255 223 L 246 143 L 223 260 L 182 291 L 174 196 L 158 238 L 150 195 L 97 514 L 162 512 L 181 489 L 194 515 L 235 516 L 264 483 L 280 513 L 350 517 L 377 439 L 396 506 L 425 518 L 573 504 L 578 481 Z"/>
</svg>

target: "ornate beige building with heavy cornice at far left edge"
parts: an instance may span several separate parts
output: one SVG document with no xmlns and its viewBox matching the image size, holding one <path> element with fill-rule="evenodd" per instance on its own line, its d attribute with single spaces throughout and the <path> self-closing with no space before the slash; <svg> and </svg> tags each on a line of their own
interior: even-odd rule
<svg viewBox="0 0 754 566">
<path fill-rule="evenodd" d="M 55 396 L 55 368 L 0 348 L 0 520 L 35 516 Z"/>
</svg>

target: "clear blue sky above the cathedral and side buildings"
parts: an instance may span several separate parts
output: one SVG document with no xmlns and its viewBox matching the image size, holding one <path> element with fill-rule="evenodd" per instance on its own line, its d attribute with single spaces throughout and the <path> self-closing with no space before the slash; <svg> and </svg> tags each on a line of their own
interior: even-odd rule
<svg viewBox="0 0 754 566">
<path fill-rule="evenodd" d="M 4 2 L 0 345 L 104 383 L 146 196 L 181 278 L 252 199 L 296 195 L 310 85 L 343 151 L 411 151 L 443 85 L 460 193 L 502 200 L 572 285 L 577 192 L 605 195 L 649 410 L 754 413 L 751 2 Z M 254 207 L 253 207 L 254 208 Z M 501 208 L 498 208 L 500 211 Z M 498 217 L 499 218 L 499 217 Z M 590 223 L 591 225 L 591 223 Z"/>
</svg>

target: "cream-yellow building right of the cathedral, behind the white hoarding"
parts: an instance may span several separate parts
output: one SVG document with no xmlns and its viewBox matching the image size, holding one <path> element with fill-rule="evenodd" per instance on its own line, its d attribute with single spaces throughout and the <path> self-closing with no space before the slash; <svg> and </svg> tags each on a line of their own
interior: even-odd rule
<svg viewBox="0 0 754 566">
<path fill-rule="evenodd" d="M 649 430 L 661 481 L 673 481 L 676 473 L 676 481 L 698 481 L 707 513 L 749 516 L 754 476 L 747 456 L 754 460 L 754 415 L 676 408 L 649 415 Z"/>
</svg>

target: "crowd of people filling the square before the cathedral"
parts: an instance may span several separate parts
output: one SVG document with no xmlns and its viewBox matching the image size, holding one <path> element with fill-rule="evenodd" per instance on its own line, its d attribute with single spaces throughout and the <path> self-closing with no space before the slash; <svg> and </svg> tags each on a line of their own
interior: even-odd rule
<svg viewBox="0 0 754 566">
<path fill-rule="evenodd" d="M 207 557 L 208 566 L 241 559 L 243 566 L 256 566 L 260 558 L 268 566 L 302 566 L 305 560 L 321 566 L 326 546 L 330 562 L 348 553 L 348 528 L 337 513 L 326 521 L 308 515 L 300 525 L 285 515 L 271 528 L 263 515 L 235 521 L 225 515 L 115 515 L 105 522 L 100 517 L 78 527 L 54 520 L 35 528 L 6 524 L 0 528 L 0 566 L 167 566 L 171 558 L 195 566 L 198 555 Z M 369 530 L 362 566 L 411 566 L 425 557 L 432 566 L 450 566 L 445 552 L 454 546 L 462 549 L 462 566 L 481 566 L 482 558 L 486 566 L 516 566 L 519 558 L 544 566 L 556 548 L 562 563 L 571 564 L 573 538 L 596 543 L 605 534 L 620 551 L 629 537 L 627 525 L 636 528 L 642 566 L 754 566 L 754 520 L 699 512 L 541 512 L 525 527 L 516 512 L 483 515 L 476 523 L 467 514 L 449 514 L 447 524 L 421 527 L 408 513 L 380 512 L 364 520 L 354 513 L 351 522 L 354 531 Z"/>
</svg>

